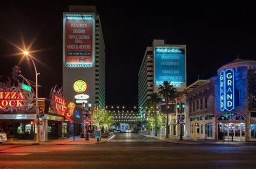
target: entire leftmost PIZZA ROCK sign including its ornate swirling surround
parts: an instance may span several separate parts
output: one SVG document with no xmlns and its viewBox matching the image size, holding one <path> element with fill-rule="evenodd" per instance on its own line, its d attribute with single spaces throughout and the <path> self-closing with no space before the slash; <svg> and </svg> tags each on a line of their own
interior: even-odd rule
<svg viewBox="0 0 256 169">
<path fill-rule="evenodd" d="M 33 107 L 34 94 L 17 87 L 0 89 L 0 110 L 29 110 Z"/>
</svg>

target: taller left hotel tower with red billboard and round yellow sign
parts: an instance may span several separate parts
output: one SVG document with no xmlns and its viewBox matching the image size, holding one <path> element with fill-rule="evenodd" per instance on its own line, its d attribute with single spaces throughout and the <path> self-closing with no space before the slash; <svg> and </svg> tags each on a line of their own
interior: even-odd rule
<svg viewBox="0 0 256 169">
<path fill-rule="evenodd" d="M 63 13 L 63 95 L 86 94 L 105 107 L 105 44 L 95 6 L 69 6 Z"/>
</svg>

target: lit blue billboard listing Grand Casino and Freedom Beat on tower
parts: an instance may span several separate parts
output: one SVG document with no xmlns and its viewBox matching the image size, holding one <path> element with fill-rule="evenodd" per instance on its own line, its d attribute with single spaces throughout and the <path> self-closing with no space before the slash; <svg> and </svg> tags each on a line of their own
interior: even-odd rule
<svg viewBox="0 0 256 169">
<path fill-rule="evenodd" d="M 186 51 L 177 46 L 155 47 L 155 83 L 169 81 L 177 90 L 186 87 Z"/>
</svg>

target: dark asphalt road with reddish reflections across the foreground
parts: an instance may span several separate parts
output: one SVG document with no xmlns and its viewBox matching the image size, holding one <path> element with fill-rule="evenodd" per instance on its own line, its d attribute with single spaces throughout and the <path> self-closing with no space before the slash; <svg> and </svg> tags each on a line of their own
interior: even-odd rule
<svg viewBox="0 0 256 169">
<path fill-rule="evenodd" d="M 256 146 L 187 145 L 118 133 L 91 145 L 0 145 L 0 168 L 256 168 Z"/>
</svg>

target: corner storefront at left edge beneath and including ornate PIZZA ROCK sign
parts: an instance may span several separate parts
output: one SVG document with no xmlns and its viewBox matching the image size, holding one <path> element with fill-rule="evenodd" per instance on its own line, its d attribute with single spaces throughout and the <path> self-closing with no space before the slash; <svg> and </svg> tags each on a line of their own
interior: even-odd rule
<svg viewBox="0 0 256 169">
<path fill-rule="evenodd" d="M 0 128 L 6 132 L 8 140 L 34 139 L 35 95 L 8 84 L 0 87 Z"/>
</svg>

